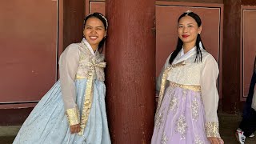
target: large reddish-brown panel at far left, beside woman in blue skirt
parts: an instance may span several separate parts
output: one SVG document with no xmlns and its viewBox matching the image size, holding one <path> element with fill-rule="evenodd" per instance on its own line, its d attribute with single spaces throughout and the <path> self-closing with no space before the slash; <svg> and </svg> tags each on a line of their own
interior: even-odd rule
<svg viewBox="0 0 256 144">
<path fill-rule="evenodd" d="M 38 101 L 56 82 L 58 1 L 1 1 L 0 21 L 0 102 Z"/>
</svg>

